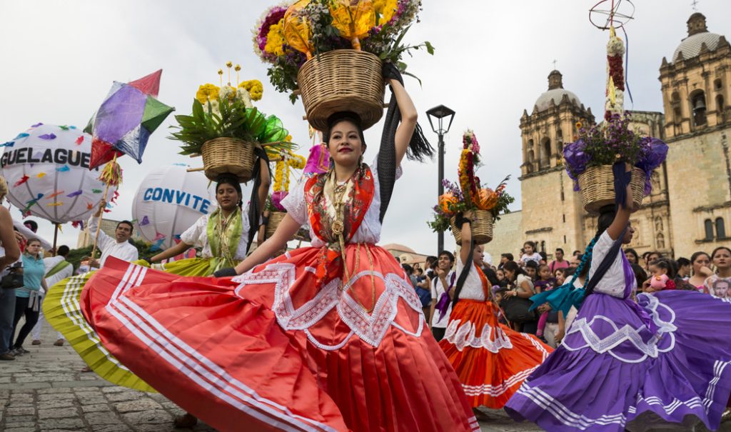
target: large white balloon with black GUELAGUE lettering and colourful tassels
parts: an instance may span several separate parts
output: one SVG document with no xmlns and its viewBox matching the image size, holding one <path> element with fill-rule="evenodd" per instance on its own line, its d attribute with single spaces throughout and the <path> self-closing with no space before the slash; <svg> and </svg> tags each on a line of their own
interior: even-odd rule
<svg viewBox="0 0 731 432">
<path fill-rule="evenodd" d="M 102 200 L 99 169 L 89 170 L 91 135 L 74 126 L 37 124 L 4 144 L 0 175 L 7 199 L 56 224 L 86 221 Z M 116 191 L 110 187 L 109 201 Z"/>
</svg>

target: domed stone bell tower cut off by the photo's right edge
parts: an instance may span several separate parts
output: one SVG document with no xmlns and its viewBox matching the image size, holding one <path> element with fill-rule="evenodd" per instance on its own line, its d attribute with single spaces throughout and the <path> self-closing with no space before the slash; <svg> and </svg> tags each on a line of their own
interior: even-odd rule
<svg viewBox="0 0 731 432">
<path fill-rule="evenodd" d="M 659 80 L 675 256 L 727 245 L 731 223 L 731 45 L 695 12 Z"/>
</svg>

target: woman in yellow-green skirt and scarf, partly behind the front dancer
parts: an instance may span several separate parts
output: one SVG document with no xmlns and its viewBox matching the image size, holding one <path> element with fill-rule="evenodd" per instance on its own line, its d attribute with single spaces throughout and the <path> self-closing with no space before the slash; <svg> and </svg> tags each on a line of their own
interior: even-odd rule
<svg viewBox="0 0 731 432">
<path fill-rule="evenodd" d="M 220 268 L 237 265 L 249 250 L 250 232 L 254 232 L 250 230 L 251 221 L 258 224 L 269 189 L 269 169 L 265 159 L 260 159 L 257 171 L 259 175 L 254 184 L 257 192 L 252 194 L 252 202 L 256 201 L 258 206 L 250 212 L 255 217 L 246 216 L 242 211 L 243 194 L 238 179 L 232 175 L 221 175 L 216 184 L 216 201 L 219 205 L 216 211 L 202 216 L 183 232 L 180 243 L 149 260 L 140 259 L 135 264 L 151 266 L 180 276 L 211 276 Z M 202 257 L 151 264 L 182 254 L 192 247 L 200 247 Z M 95 273 L 96 271 L 91 271 L 66 278 L 50 287 L 43 302 L 43 313 L 50 325 L 64 335 L 96 374 L 116 385 L 154 392 L 152 387 L 132 374 L 105 349 L 94 328 L 84 318 L 79 300 L 84 286 Z"/>
</svg>

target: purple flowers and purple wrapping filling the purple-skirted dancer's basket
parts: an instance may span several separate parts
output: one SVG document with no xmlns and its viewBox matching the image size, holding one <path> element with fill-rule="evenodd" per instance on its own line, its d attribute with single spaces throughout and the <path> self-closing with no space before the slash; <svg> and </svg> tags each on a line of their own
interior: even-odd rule
<svg viewBox="0 0 731 432">
<path fill-rule="evenodd" d="M 579 175 L 588 167 L 627 162 L 645 171 L 645 195 L 650 194 L 650 176 L 665 160 L 667 144 L 632 131 L 630 121 L 629 113 L 613 114 L 602 124 L 580 127 L 577 140 L 564 146 L 566 170 L 575 191 L 579 190 Z"/>
</svg>

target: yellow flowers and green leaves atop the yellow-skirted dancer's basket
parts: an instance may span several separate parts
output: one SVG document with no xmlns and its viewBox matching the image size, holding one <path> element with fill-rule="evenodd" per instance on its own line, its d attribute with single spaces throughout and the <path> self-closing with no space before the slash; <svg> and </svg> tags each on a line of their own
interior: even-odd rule
<svg viewBox="0 0 731 432">
<path fill-rule="evenodd" d="M 221 86 L 211 83 L 203 84 L 193 100 L 191 115 L 175 115 L 178 129 L 171 139 L 179 140 L 180 154 L 200 154 L 203 143 L 214 138 L 238 138 L 246 143 L 265 145 L 268 154 L 276 155 L 279 151 L 295 148 L 285 140 L 287 129 L 275 115 L 260 112 L 252 101 L 262 99 L 263 86 L 259 80 L 239 82 L 240 66 L 234 68 L 237 85 L 231 85 L 232 63 L 227 64 L 229 82 L 223 84 L 223 70 L 219 69 Z"/>
</svg>

